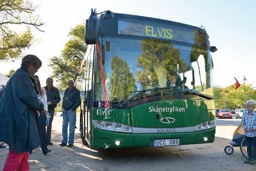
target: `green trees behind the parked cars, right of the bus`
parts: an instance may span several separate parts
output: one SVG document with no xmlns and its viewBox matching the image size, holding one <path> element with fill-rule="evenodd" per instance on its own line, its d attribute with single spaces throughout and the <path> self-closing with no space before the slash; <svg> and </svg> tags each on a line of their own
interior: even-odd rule
<svg viewBox="0 0 256 171">
<path fill-rule="evenodd" d="M 252 88 L 252 85 L 245 85 L 245 95 L 246 100 L 254 99 L 256 100 L 256 90 Z M 225 88 L 214 86 L 214 100 L 215 108 L 225 108 L 230 109 L 244 107 L 244 87 L 241 85 L 237 90 L 235 90 L 235 84 L 230 85 Z"/>
</svg>

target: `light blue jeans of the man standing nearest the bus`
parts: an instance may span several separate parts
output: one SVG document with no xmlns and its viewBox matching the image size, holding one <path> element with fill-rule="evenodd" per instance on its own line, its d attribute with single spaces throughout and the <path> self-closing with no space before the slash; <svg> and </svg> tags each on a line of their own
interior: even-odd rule
<svg viewBox="0 0 256 171">
<path fill-rule="evenodd" d="M 74 138 L 75 138 L 75 127 L 76 127 L 76 111 L 74 110 L 62 110 L 62 117 L 63 117 L 63 123 L 62 123 L 62 142 L 67 144 L 74 144 Z M 68 141 L 68 123 L 69 123 L 69 141 Z"/>
</svg>

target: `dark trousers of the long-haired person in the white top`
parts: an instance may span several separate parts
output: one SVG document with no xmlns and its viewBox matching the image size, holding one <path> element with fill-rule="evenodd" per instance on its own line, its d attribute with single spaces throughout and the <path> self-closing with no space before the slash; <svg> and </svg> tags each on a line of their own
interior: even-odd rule
<svg viewBox="0 0 256 171">
<path fill-rule="evenodd" d="M 46 137 L 45 121 L 46 121 L 45 113 L 40 113 L 40 116 L 38 118 L 37 131 L 38 131 L 38 134 L 40 137 L 42 150 L 47 150 L 47 137 Z"/>
</svg>

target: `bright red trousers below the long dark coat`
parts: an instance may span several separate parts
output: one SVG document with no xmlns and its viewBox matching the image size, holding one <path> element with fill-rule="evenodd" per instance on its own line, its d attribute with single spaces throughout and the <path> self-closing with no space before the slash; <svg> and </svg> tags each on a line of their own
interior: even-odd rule
<svg viewBox="0 0 256 171">
<path fill-rule="evenodd" d="M 28 156 L 29 152 L 14 153 L 9 151 L 3 171 L 29 171 Z"/>
</svg>

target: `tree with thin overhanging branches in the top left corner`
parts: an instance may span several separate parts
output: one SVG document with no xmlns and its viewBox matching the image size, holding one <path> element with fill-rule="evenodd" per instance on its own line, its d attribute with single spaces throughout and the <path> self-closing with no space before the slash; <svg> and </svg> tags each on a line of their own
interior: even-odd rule
<svg viewBox="0 0 256 171">
<path fill-rule="evenodd" d="M 0 1 L 0 60 L 17 59 L 22 50 L 33 44 L 31 27 L 43 32 L 39 27 L 44 23 L 35 14 L 36 8 L 37 6 L 24 0 Z M 11 29 L 17 25 L 23 31 L 18 33 Z"/>
</svg>

